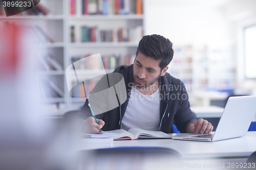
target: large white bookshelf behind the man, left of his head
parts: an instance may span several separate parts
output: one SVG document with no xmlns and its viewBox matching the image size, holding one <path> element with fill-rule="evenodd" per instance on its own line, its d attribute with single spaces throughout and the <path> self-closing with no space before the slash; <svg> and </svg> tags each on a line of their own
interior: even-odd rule
<svg viewBox="0 0 256 170">
<path fill-rule="evenodd" d="M 37 70 L 37 77 L 42 83 L 39 83 L 41 90 L 40 102 L 46 105 L 56 105 L 58 109 L 79 109 L 86 100 L 85 98 L 73 98 L 68 91 L 65 70 L 71 64 L 73 58 L 84 58 L 88 55 L 101 54 L 102 59 L 105 60 L 110 58 L 115 58 L 115 62 L 119 64 L 131 64 L 136 54 L 137 46 L 139 40 L 143 35 L 143 12 L 142 12 L 142 1 L 141 0 L 108 0 L 108 1 L 91 1 L 88 3 L 112 3 L 112 8 L 110 9 L 110 4 L 108 5 L 108 12 L 104 8 L 104 13 L 90 11 L 88 14 L 83 14 L 82 3 L 86 0 L 41 0 L 40 5 L 44 6 L 48 10 L 48 14 L 44 15 L 39 13 L 38 15 L 31 15 L 29 12 L 23 12 L 14 16 L 6 17 L 0 15 L 0 24 L 6 21 L 12 22 L 21 26 L 34 27 L 38 26 L 45 35 L 47 35 L 52 42 L 38 43 L 37 47 L 40 49 L 40 57 L 42 57 L 47 64 L 49 64 L 47 56 L 52 56 L 61 66 L 62 69 L 56 69 L 50 65 L 50 69 L 40 65 Z M 113 4 L 114 2 L 119 2 L 118 4 Z M 136 2 L 140 3 L 140 10 L 136 11 Z M 71 3 L 75 3 L 71 5 Z M 122 3 L 132 3 L 133 7 L 126 8 Z M 96 4 L 96 10 L 100 10 Z M 94 8 L 92 4 L 89 5 L 90 8 Z M 73 12 L 71 13 L 71 7 Z M 125 9 L 123 9 L 125 7 Z M 129 10 L 130 9 L 130 10 Z M 139 11 L 138 11 L 139 10 Z M 94 13 L 94 14 L 92 14 Z M 74 36 L 75 41 L 71 42 L 71 26 L 74 26 Z M 139 28 L 140 35 L 134 36 L 133 40 L 116 40 L 111 42 L 102 42 L 99 39 L 95 42 L 82 42 L 81 41 L 81 27 L 97 27 L 100 30 L 112 30 L 113 34 L 116 34 L 114 30 L 122 29 L 136 29 Z M 138 29 L 137 29 L 138 30 Z M 125 38 L 125 37 L 124 37 Z M 136 38 L 136 39 L 135 39 Z M 114 57 L 113 57 L 114 56 Z M 127 61 L 118 61 L 118 58 L 125 58 L 129 56 Z M 45 62 L 44 61 L 44 62 Z M 40 61 L 39 61 L 40 62 Z M 128 63 L 127 63 L 128 62 Z M 105 72 L 112 72 L 114 67 L 110 66 L 105 68 Z M 78 74 L 84 76 L 84 78 L 91 78 L 94 75 L 101 74 L 101 70 L 80 70 Z M 103 74 L 103 72 L 102 72 Z M 75 80 L 74 80 L 75 81 Z M 49 85 L 49 82 L 57 86 L 58 90 L 61 90 L 64 95 L 60 96 L 50 96 L 51 91 L 55 91 L 53 87 Z M 74 83 L 74 82 L 68 82 Z M 49 89 L 48 89 L 49 88 Z M 49 92 L 50 90 L 50 92 Z M 55 93 L 54 92 L 54 93 Z"/>
</svg>

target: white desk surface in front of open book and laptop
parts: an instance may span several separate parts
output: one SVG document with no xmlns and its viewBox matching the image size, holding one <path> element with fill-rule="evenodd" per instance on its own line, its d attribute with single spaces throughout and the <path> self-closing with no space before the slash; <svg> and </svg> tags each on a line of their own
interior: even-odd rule
<svg viewBox="0 0 256 170">
<path fill-rule="evenodd" d="M 185 141 L 174 139 L 117 140 L 116 147 L 163 147 L 176 150 L 183 158 L 234 158 L 248 157 L 256 151 L 256 131 L 247 132 L 243 137 L 215 141 Z M 94 147 L 100 149 L 105 147 Z"/>
</svg>

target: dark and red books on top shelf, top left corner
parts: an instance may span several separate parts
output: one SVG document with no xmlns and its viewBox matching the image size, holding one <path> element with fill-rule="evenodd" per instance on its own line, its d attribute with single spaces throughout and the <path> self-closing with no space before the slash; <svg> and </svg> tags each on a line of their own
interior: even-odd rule
<svg viewBox="0 0 256 170">
<path fill-rule="evenodd" d="M 9 10 L 13 10 L 13 11 L 9 11 Z M 8 13 L 17 13 L 18 11 L 14 11 L 14 10 L 19 10 L 19 8 L 8 8 Z M 20 12 L 16 15 L 48 15 L 51 14 L 51 11 L 45 7 L 44 5 L 42 5 L 41 3 L 38 3 L 36 6 L 24 11 L 24 12 Z M 5 15 L 5 10 L 3 5 L 0 5 L 0 15 Z"/>
</svg>

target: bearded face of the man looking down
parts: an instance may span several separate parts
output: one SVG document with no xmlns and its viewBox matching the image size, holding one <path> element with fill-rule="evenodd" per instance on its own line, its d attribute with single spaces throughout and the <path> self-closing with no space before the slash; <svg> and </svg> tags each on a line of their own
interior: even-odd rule
<svg viewBox="0 0 256 170">
<path fill-rule="evenodd" d="M 161 70 L 159 63 L 160 60 L 154 60 L 138 53 L 133 66 L 134 86 L 145 88 L 156 83 L 160 76 L 164 76 L 168 66 Z"/>
</svg>

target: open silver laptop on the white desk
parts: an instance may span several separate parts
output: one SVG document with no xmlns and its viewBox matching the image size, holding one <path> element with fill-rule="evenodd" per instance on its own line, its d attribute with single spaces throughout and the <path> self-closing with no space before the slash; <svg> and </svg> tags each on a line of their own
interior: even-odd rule
<svg viewBox="0 0 256 170">
<path fill-rule="evenodd" d="M 256 95 L 230 97 L 215 132 L 180 133 L 172 139 L 217 141 L 246 135 L 256 112 Z"/>
</svg>

